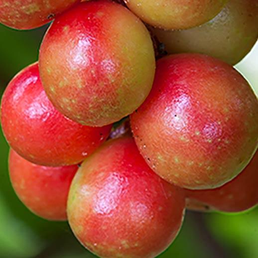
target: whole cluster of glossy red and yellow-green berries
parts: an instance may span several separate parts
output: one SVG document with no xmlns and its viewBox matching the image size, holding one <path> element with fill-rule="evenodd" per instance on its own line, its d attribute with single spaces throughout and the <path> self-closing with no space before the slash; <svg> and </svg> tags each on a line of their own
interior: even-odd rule
<svg viewBox="0 0 258 258">
<path fill-rule="evenodd" d="M 258 38 L 256 0 L 0 0 L 12 28 L 52 19 L 1 101 L 28 209 L 100 257 L 154 258 L 185 208 L 258 204 L 258 99 L 232 66 Z"/>
</svg>

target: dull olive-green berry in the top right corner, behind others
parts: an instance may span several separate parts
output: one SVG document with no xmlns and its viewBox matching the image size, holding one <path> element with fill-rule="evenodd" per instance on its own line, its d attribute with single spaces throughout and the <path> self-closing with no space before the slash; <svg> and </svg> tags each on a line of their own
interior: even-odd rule
<svg viewBox="0 0 258 258">
<path fill-rule="evenodd" d="M 169 54 L 198 52 L 234 65 L 256 43 L 257 24 L 257 0 L 229 0 L 215 18 L 201 26 L 180 31 L 153 29 L 153 33 Z"/>
</svg>

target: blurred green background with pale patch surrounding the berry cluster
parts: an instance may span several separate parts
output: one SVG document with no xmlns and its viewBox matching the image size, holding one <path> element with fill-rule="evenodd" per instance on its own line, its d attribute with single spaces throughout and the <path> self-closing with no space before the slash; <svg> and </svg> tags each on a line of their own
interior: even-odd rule
<svg viewBox="0 0 258 258">
<path fill-rule="evenodd" d="M 46 26 L 15 31 L 0 25 L 0 94 L 22 68 L 35 62 Z M 236 68 L 258 93 L 258 43 Z M 7 169 L 8 145 L 0 131 L 0 257 L 93 258 L 67 223 L 30 213 L 15 196 Z M 183 228 L 159 258 L 258 258 L 258 208 L 238 215 L 187 212 Z"/>
</svg>

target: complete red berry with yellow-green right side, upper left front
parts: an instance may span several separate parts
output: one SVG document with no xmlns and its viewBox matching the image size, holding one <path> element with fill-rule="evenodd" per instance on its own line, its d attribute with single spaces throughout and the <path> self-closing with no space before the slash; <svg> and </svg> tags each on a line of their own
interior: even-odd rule
<svg viewBox="0 0 258 258">
<path fill-rule="evenodd" d="M 40 47 L 39 68 L 44 89 L 62 114 L 104 126 L 147 97 L 154 50 L 148 30 L 126 7 L 89 1 L 55 19 Z"/>
</svg>

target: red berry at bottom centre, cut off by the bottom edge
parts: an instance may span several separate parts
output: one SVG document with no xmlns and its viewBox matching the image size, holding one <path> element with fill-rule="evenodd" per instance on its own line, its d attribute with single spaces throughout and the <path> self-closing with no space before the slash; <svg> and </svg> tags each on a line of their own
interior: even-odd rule
<svg viewBox="0 0 258 258">
<path fill-rule="evenodd" d="M 124 137 L 82 163 L 67 214 L 75 236 L 97 256 L 154 258 L 176 237 L 184 207 L 181 190 L 158 177 Z"/>
</svg>

